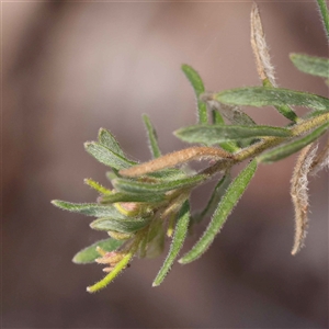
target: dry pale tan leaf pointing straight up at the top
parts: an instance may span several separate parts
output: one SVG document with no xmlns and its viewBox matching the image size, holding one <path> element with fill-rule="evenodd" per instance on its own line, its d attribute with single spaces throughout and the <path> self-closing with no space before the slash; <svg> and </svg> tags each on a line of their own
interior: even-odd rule
<svg viewBox="0 0 329 329">
<path fill-rule="evenodd" d="M 256 3 L 252 4 L 251 16 L 251 47 L 256 57 L 257 71 L 261 80 L 268 79 L 273 87 L 276 87 L 274 67 L 271 64 L 269 46 L 266 45 L 263 26 Z"/>
</svg>

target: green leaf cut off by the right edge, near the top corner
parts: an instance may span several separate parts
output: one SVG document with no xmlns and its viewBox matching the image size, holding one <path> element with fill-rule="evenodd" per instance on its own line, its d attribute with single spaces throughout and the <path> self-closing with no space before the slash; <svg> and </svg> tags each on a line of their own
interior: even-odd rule
<svg viewBox="0 0 329 329">
<path fill-rule="evenodd" d="M 295 67 L 311 76 L 329 78 L 329 59 L 303 54 L 291 54 L 291 60 Z"/>
</svg>

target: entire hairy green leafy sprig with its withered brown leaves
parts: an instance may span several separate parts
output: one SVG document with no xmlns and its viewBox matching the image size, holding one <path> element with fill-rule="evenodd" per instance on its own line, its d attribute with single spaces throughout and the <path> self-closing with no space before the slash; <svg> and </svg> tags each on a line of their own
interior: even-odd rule
<svg viewBox="0 0 329 329">
<path fill-rule="evenodd" d="M 318 4 L 329 34 L 326 4 L 321 0 L 318 0 Z M 110 235 L 110 238 L 93 243 L 73 258 L 76 263 L 98 262 L 105 265 L 107 274 L 89 286 L 88 292 L 106 286 L 129 264 L 134 256 L 159 256 L 167 236 L 171 238 L 170 250 L 154 281 L 154 286 L 159 285 L 194 224 L 213 213 L 200 240 L 179 260 L 182 264 L 194 261 L 207 250 L 246 191 L 259 163 L 271 163 L 299 150 L 291 191 L 296 214 L 292 253 L 295 254 L 303 246 L 308 224 L 308 175 L 328 166 L 329 146 L 326 145 L 317 152 L 316 144 L 329 127 L 329 99 L 276 87 L 256 5 L 251 12 L 251 45 L 262 87 L 207 93 L 198 73 L 188 65 L 182 66 L 195 91 L 198 122 L 174 134 L 186 143 L 201 146 L 162 156 L 156 131 L 147 115 L 143 118 L 154 158 L 149 162 L 136 163 L 129 160 L 114 136 L 104 128 L 100 129 L 98 141 L 84 144 L 91 156 L 112 169 L 107 178 L 113 190 L 87 179 L 84 182 L 100 194 L 97 203 L 53 201 L 53 204 L 66 211 L 97 217 L 90 227 Z M 328 59 L 293 54 L 291 60 L 303 72 L 329 79 Z M 242 112 L 240 106 L 245 105 L 272 105 L 288 120 L 288 124 L 285 127 L 258 125 Z M 291 107 L 294 105 L 305 106 L 310 112 L 299 117 Z M 195 159 L 212 161 L 204 170 L 194 172 L 185 164 Z M 246 168 L 231 180 L 232 166 L 246 159 L 250 160 Z M 191 214 L 189 198 L 192 190 L 218 174 L 222 175 L 205 208 Z"/>
</svg>

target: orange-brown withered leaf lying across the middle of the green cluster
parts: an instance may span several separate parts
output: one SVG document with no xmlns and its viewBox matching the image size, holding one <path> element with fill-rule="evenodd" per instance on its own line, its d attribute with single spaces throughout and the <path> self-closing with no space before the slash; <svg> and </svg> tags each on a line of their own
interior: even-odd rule
<svg viewBox="0 0 329 329">
<path fill-rule="evenodd" d="M 209 158 L 227 159 L 232 158 L 232 155 L 217 147 L 190 147 L 164 155 L 151 161 L 131 167 L 128 169 L 123 169 L 118 173 L 126 177 L 138 177 L 145 173 L 182 164 L 191 160 L 202 160 Z"/>
</svg>

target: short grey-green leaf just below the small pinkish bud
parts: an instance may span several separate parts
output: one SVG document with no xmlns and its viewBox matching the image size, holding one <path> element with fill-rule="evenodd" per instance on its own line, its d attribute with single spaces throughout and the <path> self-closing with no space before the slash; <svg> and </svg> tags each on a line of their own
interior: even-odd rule
<svg viewBox="0 0 329 329">
<path fill-rule="evenodd" d="M 114 219 L 114 218 L 99 218 L 90 224 L 90 227 L 95 230 L 114 230 L 124 234 L 135 232 L 149 223 L 149 218 L 128 218 L 128 219 Z"/>
</svg>

